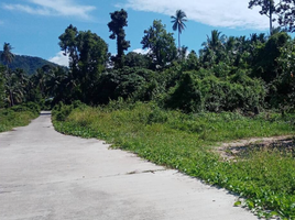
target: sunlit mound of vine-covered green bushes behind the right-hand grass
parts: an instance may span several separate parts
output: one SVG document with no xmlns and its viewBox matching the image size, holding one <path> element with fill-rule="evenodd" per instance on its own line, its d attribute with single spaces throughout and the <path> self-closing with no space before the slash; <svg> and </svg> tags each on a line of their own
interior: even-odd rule
<svg viewBox="0 0 295 220">
<path fill-rule="evenodd" d="M 226 79 L 214 74 L 188 72 L 171 90 L 166 107 L 185 112 L 253 111 L 263 107 L 265 94 L 263 82 L 251 79 L 242 70 Z"/>
</svg>

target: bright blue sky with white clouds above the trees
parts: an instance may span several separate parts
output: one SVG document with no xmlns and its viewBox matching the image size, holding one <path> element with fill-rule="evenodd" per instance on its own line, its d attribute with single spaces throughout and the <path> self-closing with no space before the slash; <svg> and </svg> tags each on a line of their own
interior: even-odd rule
<svg viewBox="0 0 295 220">
<path fill-rule="evenodd" d="M 110 40 L 108 23 L 110 13 L 120 9 L 128 12 L 125 38 L 131 42 L 128 52 L 142 52 L 144 30 L 154 20 L 162 20 L 168 32 L 171 15 L 183 10 L 187 15 L 186 29 L 181 35 L 188 51 L 198 52 L 212 30 L 228 36 L 250 36 L 251 33 L 269 33 L 269 19 L 259 8 L 248 9 L 249 0 L 1 0 L 0 51 L 10 43 L 12 53 L 37 56 L 67 65 L 58 46 L 58 36 L 73 24 L 79 31 L 88 31 L 103 38 L 109 52 L 116 54 L 116 41 Z"/>
</svg>

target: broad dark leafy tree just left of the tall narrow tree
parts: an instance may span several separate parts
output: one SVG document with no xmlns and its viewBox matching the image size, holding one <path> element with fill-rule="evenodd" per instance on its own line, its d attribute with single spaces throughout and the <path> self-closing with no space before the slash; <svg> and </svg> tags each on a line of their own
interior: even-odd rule
<svg viewBox="0 0 295 220">
<path fill-rule="evenodd" d="M 108 58 L 108 45 L 90 31 L 78 32 L 69 25 L 59 36 L 59 45 L 65 55 L 69 55 L 69 70 L 66 85 L 73 99 L 91 103 L 94 87 L 105 70 Z M 69 87 L 67 87 L 69 88 Z M 69 98 L 69 97 L 68 97 Z"/>
</svg>

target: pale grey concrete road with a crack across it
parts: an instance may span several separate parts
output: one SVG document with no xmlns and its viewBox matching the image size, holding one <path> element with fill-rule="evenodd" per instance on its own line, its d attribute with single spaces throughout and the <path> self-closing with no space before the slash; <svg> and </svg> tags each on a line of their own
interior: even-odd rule
<svg viewBox="0 0 295 220">
<path fill-rule="evenodd" d="M 43 112 L 0 133 L 1 220 L 251 220 L 236 197 L 98 140 L 54 131 Z"/>
</svg>

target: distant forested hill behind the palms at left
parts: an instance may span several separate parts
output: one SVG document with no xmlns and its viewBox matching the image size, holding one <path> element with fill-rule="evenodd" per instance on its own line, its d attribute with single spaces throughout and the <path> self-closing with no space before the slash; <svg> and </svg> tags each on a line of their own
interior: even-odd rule
<svg viewBox="0 0 295 220">
<path fill-rule="evenodd" d="M 2 52 L 0 51 L 0 56 Z M 0 64 L 3 64 L 3 63 L 0 61 Z M 12 69 L 21 68 L 26 74 L 32 75 L 36 72 L 36 69 L 41 68 L 44 65 L 50 65 L 50 66 L 55 66 L 55 67 L 58 66 L 57 64 L 51 63 L 40 57 L 15 55 L 13 62 L 10 64 L 10 67 Z"/>
</svg>

